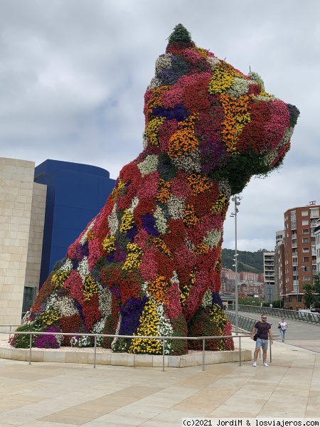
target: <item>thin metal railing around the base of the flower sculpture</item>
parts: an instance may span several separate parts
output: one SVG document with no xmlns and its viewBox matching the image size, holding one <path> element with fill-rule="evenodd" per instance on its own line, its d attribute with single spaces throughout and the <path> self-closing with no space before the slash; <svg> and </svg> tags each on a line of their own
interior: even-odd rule
<svg viewBox="0 0 320 427">
<path fill-rule="evenodd" d="M 96 367 L 96 357 L 97 357 L 97 337 L 107 337 L 107 338 L 131 338 L 131 339 L 159 339 L 162 341 L 162 371 L 164 371 L 164 357 L 165 357 L 165 342 L 169 339 L 193 339 L 193 340 L 202 340 L 202 370 L 205 371 L 205 365 L 206 365 L 206 339 L 239 339 L 239 365 L 241 366 L 242 360 L 241 360 L 241 338 L 247 338 L 248 336 L 245 334 L 242 335 L 215 335 L 213 337 L 149 337 L 149 336 L 137 336 L 137 335 L 110 335 L 110 334 L 75 334 L 73 333 L 67 333 L 67 332 L 30 332 L 30 331 L 2 331 L 2 334 L 23 334 L 23 335 L 30 335 L 29 339 L 29 361 L 28 363 L 31 364 L 31 358 L 32 358 L 32 348 L 33 349 L 39 349 L 38 347 L 32 347 L 32 337 L 34 335 L 63 335 L 63 337 L 94 337 L 95 339 L 95 346 L 94 346 L 94 355 L 93 355 L 93 367 Z"/>
</svg>

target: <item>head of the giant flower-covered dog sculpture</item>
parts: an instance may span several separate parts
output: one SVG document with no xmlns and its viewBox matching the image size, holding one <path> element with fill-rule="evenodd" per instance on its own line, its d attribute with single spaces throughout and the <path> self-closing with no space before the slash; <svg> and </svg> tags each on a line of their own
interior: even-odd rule
<svg viewBox="0 0 320 427">
<path fill-rule="evenodd" d="M 178 24 L 156 60 L 144 114 L 147 152 L 189 174 L 227 180 L 235 194 L 281 164 L 299 110 L 266 93 L 257 73 L 244 75 L 198 48 Z"/>
</svg>

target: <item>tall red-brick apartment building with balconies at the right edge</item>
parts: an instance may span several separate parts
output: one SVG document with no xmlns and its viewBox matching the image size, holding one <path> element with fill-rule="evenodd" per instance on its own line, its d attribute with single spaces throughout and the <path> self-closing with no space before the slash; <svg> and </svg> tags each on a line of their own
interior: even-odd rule
<svg viewBox="0 0 320 427">
<path fill-rule="evenodd" d="M 316 235 L 320 205 L 288 209 L 284 213 L 284 238 L 281 263 L 281 297 L 290 310 L 304 308 L 303 285 L 312 283 L 316 273 Z"/>
</svg>

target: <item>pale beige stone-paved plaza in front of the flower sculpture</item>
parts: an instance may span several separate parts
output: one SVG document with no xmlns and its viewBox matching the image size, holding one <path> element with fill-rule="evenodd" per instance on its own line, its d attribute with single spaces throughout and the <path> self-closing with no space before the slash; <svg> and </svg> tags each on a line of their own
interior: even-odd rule
<svg viewBox="0 0 320 427">
<path fill-rule="evenodd" d="M 274 334 L 277 320 L 268 318 Z M 206 371 L 0 359 L 0 427 L 176 427 L 183 417 L 317 417 L 320 353 L 309 348 L 319 350 L 320 326 L 288 324 L 288 340 L 274 342 L 269 367 L 262 359 L 257 367 L 224 363 Z M 254 349 L 254 342 L 242 339 L 242 347 Z"/>
</svg>

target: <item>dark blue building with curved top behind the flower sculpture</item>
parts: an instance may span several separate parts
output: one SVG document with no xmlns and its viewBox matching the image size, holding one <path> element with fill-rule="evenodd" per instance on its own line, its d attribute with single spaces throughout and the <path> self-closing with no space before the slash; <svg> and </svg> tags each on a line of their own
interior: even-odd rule
<svg viewBox="0 0 320 427">
<path fill-rule="evenodd" d="M 34 181 L 47 186 L 40 289 L 53 265 L 105 206 L 115 180 L 100 167 L 46 160 L 36 167 Z"/>
</svg>

